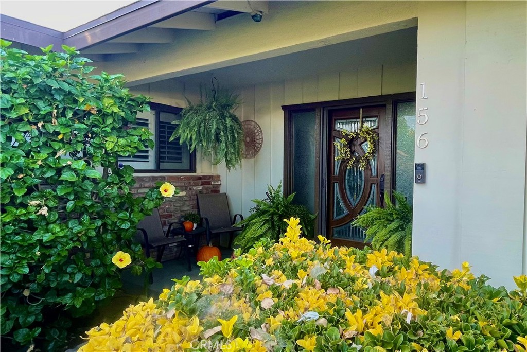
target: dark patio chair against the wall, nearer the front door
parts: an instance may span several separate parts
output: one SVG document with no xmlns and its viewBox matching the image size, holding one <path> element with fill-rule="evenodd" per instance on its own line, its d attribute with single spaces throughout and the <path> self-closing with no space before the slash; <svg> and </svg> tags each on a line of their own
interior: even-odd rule
<svg viewBox="0 0 527 352">
<path fill-rule="evenodd" d="M 232 238 L 235 232 L 243 230 L 241 227 L 233 227 L 236 218 L 243 220 L 241 214 L 235 214 L 231 218 L 227 193 L 198 194 L 198 210 L 207 233 L 207 245 L 212 237 L 220 236 L 222 233 L 229 234 L 229 248 L 232 246 Z"/>
</svg>

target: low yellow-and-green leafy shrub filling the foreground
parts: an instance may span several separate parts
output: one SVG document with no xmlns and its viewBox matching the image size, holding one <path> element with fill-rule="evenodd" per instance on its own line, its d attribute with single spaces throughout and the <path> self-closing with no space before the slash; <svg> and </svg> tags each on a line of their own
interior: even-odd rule
<svg viewBox="0 0 527 352">
<path fill-rule="evenodd" d="M 203 280 L 174 280 L 87 332 L 91 351 L 519 351 L 527 348 L 527 277 L 485 285 L 385 249 L 300 237 L 258 242 L 236 259 L 201 262 Z"/>
</svg>

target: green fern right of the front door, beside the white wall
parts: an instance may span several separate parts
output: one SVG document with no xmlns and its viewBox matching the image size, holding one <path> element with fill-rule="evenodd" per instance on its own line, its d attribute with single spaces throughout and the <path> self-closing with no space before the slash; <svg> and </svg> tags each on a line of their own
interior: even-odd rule
<svg viewBox="0 0 527 352">
<path fill-rule="evenodd" d="M 352 222 L 353 226 L 366 229 L 366 241 L 372 241 L 374 249 L 386 248 L 406 257 L 412 255 L 412 207 L 404 195 L 393 192 L 395 204 L 385 194 L 386 207 L 368 207 L 365 214 Z"/>
</svg>

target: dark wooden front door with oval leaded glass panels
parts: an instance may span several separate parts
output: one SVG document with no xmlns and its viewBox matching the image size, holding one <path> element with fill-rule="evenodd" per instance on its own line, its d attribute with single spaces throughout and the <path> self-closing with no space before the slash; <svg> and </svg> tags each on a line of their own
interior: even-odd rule
<svg viewBox="0 0 527 352">
<path fill-rule="evenodd" d="M 375 158 L 365 170 L 355 163 L 348 168 L 349 160 L 335 161 L 334 142 L 342 138 L 342 131 L 356 131 L 362 123 L 378 134 Z M 350 224 L 365 207 L 383 206 L 384 192 L 389 191 L 389 165 L 391 150 L 391 125 L 386 118 L 386 107 L 364 107 L 329 111 L 327 155 L 327 228 L 326 236 L 334 245 L 363 248 L 364 230 Z M 350 145 L 350 154 L 362 156 L 368 142 L 358 139 Z"/>
</svg>

